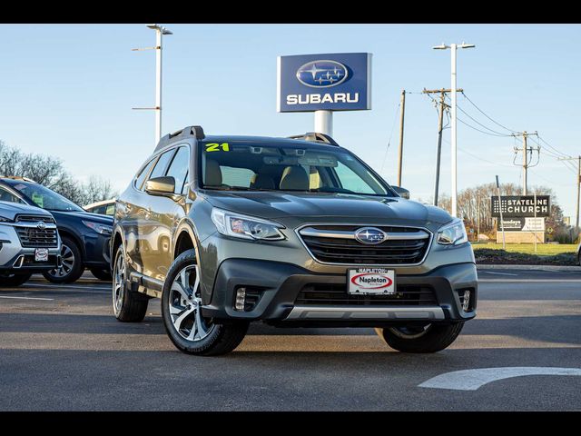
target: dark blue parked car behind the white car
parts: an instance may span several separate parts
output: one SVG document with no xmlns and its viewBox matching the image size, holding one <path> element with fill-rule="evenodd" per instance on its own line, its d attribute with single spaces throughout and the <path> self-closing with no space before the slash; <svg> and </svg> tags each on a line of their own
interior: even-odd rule
<svg viewBox="0 0 581 436">
<path fill-rule="evenodd" d="M 22 177 L 0 177 L 0 195 L 14 203 L 38 206 L 53 214 L 62 240 L 62 265 L 43 272 L 46 280 L 75 282 L 85 268 L 100 280 L 111 280 L 112 217 L 85 212 L 63 195 Z"/>
</svg>

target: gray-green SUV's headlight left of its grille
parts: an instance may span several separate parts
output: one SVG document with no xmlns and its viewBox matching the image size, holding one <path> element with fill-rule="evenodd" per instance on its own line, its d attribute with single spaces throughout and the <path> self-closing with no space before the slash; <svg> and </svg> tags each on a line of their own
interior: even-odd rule
<svg viewBox="0 0 581 436">
<path fill-rule="evenodd" d="M 212 209 L 212 222 L 216 225 L 218 232 L 225 236 L 260 241 L 281 241 L 284 239 L 284 235 L 279 230 L 283 226 L 279 223 L 215 207 Z"/>
</svg>

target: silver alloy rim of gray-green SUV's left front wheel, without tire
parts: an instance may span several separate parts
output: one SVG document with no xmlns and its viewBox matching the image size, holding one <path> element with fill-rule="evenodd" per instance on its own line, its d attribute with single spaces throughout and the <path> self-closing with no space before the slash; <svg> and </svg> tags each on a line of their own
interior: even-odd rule
<svg viewBox="0 0 581 436">
<path fill-rule="evenodd" d="M 192 342 L 202 341 L 215 327 L 210 320 L 202 317 L 199 272 L 198 265 L 184 267 L 168 292 L 173 328 L 183 339 Z"/>
</svg>

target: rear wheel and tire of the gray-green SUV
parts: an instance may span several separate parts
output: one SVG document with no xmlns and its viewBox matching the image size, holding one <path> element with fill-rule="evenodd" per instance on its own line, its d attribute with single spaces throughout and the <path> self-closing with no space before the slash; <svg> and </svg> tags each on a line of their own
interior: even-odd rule
<svg viewBox="0 0 581 436">
<path fill-rule="evenodd" d="M 113 314 L 121 322 L 142 322 L 147 313 L 149 297 L 132 291 L 127 282 L 127 263 L 123 245 L 120 245 L 113 263 Z"/>
</svg>

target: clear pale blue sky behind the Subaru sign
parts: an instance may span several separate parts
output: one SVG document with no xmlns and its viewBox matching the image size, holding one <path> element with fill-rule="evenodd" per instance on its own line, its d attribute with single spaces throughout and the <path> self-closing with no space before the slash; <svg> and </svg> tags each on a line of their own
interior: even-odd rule
<svg viewBox="0 0 581 436">
<path fill-rule="evenodd" d="M 466 41 L 477 47 L 458 51 L 458 86 L 474 103 L 510 129 L 537 130 L 561 152 L 581 153 L 581 25 L 163 25 L 174 33 L 164 39 L 163 133 L 191 124 L 209 134 L 310 131 L 312 114 L 276 112 L 276 57 L 369 52 L 373 109 L 335 114 L 334 136 L 395 183 L 399 94 L 449 87 L 449 51 L 431 46 Z M 153 150 L 153 112 L 131 109 L 153 105 L 153 51 L 131 51 L 153 45 L 153 31 L 0 25 L 0 40 L 0 139 L 59 156 L 79 179 L 101 175 L 122 190 Z M 458 104 L 506 132 L 462 96 Z M 426 96 L 408 95 L 402 184 L 413 198 L 432 195 L 437 122 Z M 449 131 L 444 140 L 441 189 L 449 193 Z M 515 144 L 458 124 L 459 188 L 495 174 L 520 183 Z M 574 216 L 575 173 L 544 150 L 529 183 L 553 188 Z"/>
</svg>

